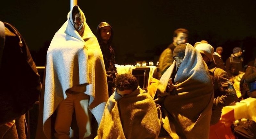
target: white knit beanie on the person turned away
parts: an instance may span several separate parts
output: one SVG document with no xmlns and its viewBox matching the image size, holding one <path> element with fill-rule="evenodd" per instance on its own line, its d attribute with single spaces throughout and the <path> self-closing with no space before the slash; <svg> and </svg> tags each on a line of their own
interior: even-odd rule
<svg viewBox="0 0 256 139">
<path fill-rule="evenodd" d="M 201 54 L 204 54 L 208 59 L 212 60 L 214 48 L 208 43 L 201 43 L 196 48 Z"/>
</svg>

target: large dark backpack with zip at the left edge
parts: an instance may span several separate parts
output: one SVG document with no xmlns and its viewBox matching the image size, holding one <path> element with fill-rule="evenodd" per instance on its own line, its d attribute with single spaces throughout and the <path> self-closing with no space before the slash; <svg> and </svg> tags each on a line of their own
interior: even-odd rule
<svg viewBox="0 0 256 139">
<path fill-rule="evenodd" d="M 29 111 L 41 91 L 40 76 L 25 40 L 11 24 L 4 23 L 4 26 L 0 55 L 0 125 Z"/>
</svg>

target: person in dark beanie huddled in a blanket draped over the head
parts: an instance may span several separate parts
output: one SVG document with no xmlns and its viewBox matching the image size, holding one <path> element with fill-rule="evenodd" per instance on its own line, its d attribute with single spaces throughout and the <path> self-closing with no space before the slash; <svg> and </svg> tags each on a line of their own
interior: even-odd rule
<svg viewBox="0 0 256 139">
<path fill-rule="evenodd" d="M 208 139 L 214 87 L 202 56 L 189 43 L 173 51 L 173 64 L 157 87 L 162 127 L 159 137 Z"/>
</svg>

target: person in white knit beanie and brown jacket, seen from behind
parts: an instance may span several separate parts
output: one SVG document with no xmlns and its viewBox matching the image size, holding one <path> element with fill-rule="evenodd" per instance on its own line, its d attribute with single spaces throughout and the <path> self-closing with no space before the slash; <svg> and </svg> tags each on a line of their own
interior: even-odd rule
<svg viewBox="0 0 256 139">
<path fill-rule="evenodd" d="M 214 101 L 211 118 L 211 125 L 213 125 L 219 122 L 222 108 L 235 102 L 238 98 L 233 83 L 229 81 L 227 72 L 217 68 L 212 60 L 214 48 L 208 43 L 201 43 L 195 49 L 200 52 L 204 62 L 207 64 L 214 85 Z"/>
</svg>

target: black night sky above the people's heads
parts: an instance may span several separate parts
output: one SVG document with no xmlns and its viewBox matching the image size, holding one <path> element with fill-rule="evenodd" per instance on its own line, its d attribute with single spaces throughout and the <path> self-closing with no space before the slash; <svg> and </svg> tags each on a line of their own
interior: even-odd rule
<svg viewBox="0 0 256 139">
<path fill-rule="evenodd" d="M 18 29 L 32 54 L 47 49 L 70 10 L 68 0 L 5 0 L 2 3 L 0 20 Z M 112 25 L 117 64 L 142 59 L 156 61 L 172 42 L 177 28 L 189 30 L 192 45 L 207 40 L 214 48 L 223 46 L 224 59 L 234 47 L 246 50 L 247 61 L 256 55 L 255 0 L 78 0 L 78 6 L 93 33 L 102 21 Z M 42 59 L 46 57 L 40 54 Z M 36 64 L 40 61 L 38 57 L 34 59 Z"/>
</svg>

